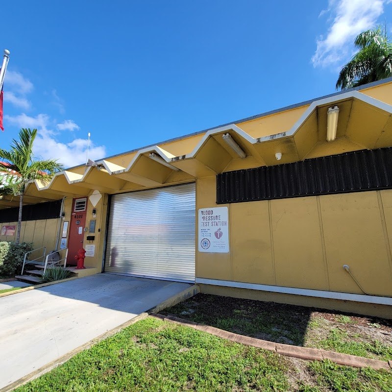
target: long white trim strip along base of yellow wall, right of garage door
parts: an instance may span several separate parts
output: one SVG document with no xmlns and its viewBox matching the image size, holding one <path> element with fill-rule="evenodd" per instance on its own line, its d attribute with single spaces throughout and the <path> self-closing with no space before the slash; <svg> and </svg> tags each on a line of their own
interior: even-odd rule
<svg viewBox="0 0 392 392">
<path fill-rule="evenodd" d="M 232 282 L 228 280 L 205 279 L 205 278 L 196 278 L 196 283 L 201 283 L 205 285 L 214 285 L 214 286 L 235 287 L 239 289 L 269 291 L 272 293 L 296 294 L 296 295 L 305 295 L 308 297 L 342 299 L 345 301 L 376 303 L 380 305 L 392 305 L 391 297 L 337 293 L 337 292 L 322 291 L 322 290 L 296 289 L 294 287 L 268 286 L 268 285 L 254 284 L 254 283 Z"/>
</svg>

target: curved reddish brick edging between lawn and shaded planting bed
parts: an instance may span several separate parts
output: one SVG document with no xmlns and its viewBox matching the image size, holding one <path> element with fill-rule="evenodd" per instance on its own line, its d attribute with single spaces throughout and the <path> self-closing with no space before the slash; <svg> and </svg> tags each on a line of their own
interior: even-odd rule
<svg viewBox="0 0 392 392">
<path fill-rule="evenodd" d="M 310 361 L 322 361 L 329 359 L 338 365 L 352 366 L 354 368 L 373 368 L 373 369 L 388 369 L 392 368 L 392 361 L 379 361 L 378 359 L 370 359 L 364 357 L 358 357 L 356 355 L 342 354 L 335 351 L 327 351 L 319 348 L 299 347 L 291 344 L 280 344 L 269 342 L 266 340 L 250 338 L 249 336 L 238 335 L 232 332 L 224 331 L 219 328 L 211 327 L 209 325 L 198 324 L 193 321 L 180 319 L 173 316 L 164 316 L 157 313 L 151 313 L 151 317 L 161 319 L 164 321 L 171 321 L 177 324 L 186 325 L 188 327 L 197 329 L 199 331 L 208 332 L 212 335 L 218 336 L 223 339 L 227 339 L 231 342 L 242 343 L 247 346 L 264 348 L 265 350 L 276 352 L 280 355 L 288 357 L 295 357 L 306 359 Z"/>
</svg>

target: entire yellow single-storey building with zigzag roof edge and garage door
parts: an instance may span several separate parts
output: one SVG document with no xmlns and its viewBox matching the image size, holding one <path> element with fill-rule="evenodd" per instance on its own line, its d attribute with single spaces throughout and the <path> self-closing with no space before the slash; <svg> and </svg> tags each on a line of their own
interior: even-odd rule
<svg viewBox="0 0 392 392">
<path fill-rule="evenodd" d="M 391 114 L 389 78 L 68 169 L 27 185 L 21 240 L 84 246 L 85 274 L 392 318 Z"/>
</svg>

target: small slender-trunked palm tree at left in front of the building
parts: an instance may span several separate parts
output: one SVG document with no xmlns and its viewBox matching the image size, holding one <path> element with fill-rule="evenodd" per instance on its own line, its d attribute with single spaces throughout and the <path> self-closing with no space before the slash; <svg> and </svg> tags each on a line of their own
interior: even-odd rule
<svg viewBox="0 0 392 392">
<path fill-rule="evenodd" d="M 33 143 L 37 129 L 22 128 L 19 131 L 19 141 L 13 139 L 10 150 L 0 148 L 0 172 L 3 174 L 1 194 L 20 196 L 18 230 L 16 243 L 19 244 L 22 225 L 23 195 L 25 184 L 29 180 L 48 181 L 55 172 L 64 170 L 63 165 L 56 160 L 36 160 L 33 157 Z M 8 174 L 9 173 L 9 174 Z M 8 177 L 8 178 L 4 178 Z"/>
</svg>

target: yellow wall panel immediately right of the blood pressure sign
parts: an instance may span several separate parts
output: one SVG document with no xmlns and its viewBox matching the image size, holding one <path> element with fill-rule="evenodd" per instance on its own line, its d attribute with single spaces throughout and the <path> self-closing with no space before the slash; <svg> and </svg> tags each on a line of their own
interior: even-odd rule
<svg viewBox="0 0 392 392">
<path fill-rule="evenodd" d="M 230 206 L 233 280 L 273 285 L 268 201 Z"/>
</svg>

